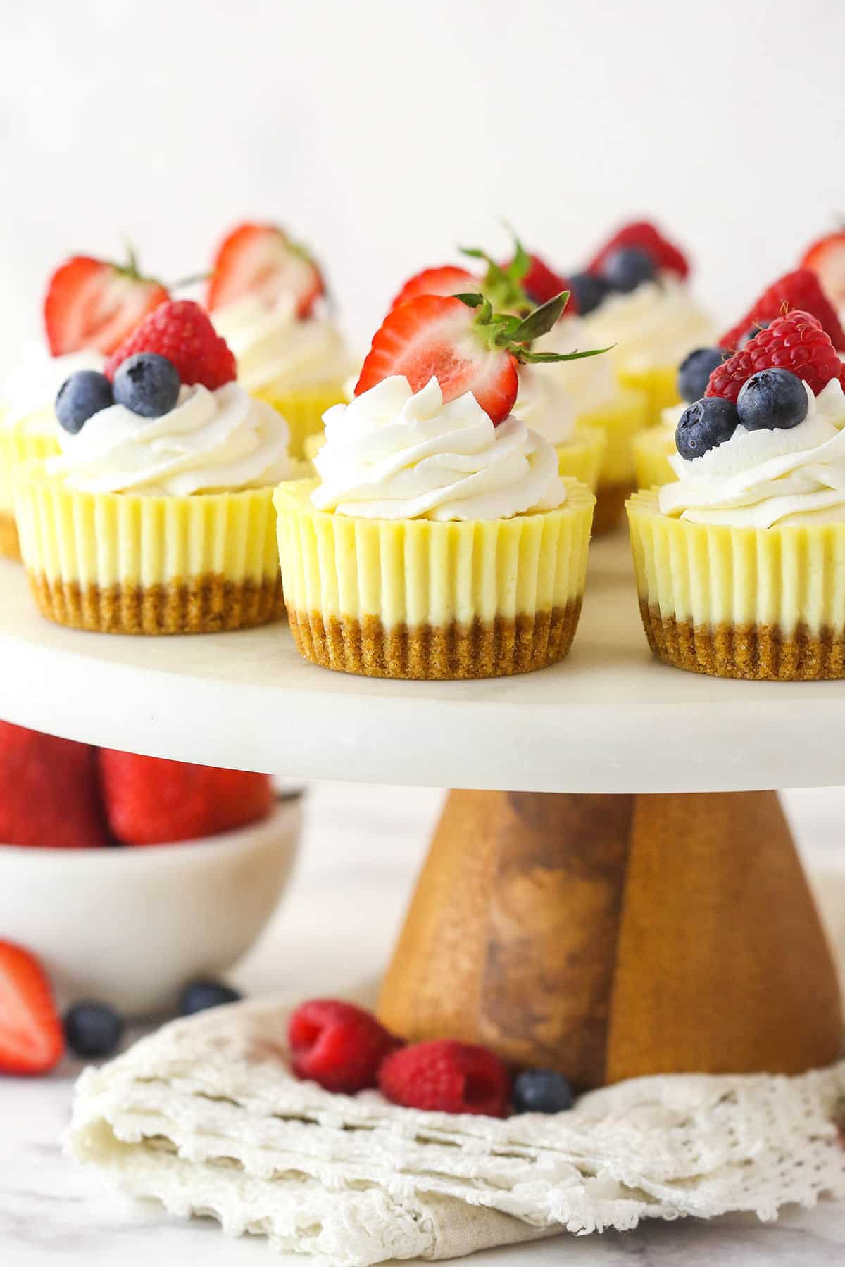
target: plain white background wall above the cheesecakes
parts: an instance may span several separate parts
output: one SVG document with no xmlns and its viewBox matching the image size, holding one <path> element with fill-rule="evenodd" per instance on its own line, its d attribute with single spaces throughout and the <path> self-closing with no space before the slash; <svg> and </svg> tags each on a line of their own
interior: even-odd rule
<svg viewBox="0 0 845 1267">
<path fill-rule="evenodd" d="M 561 267 L 659 215 L 734 318 L 845 213 L 841 0 L 0 0 L 0 360 L 63 255 L 172 279 L 242 217 L 366 346 L 500 218 Z"/>
</svg>

